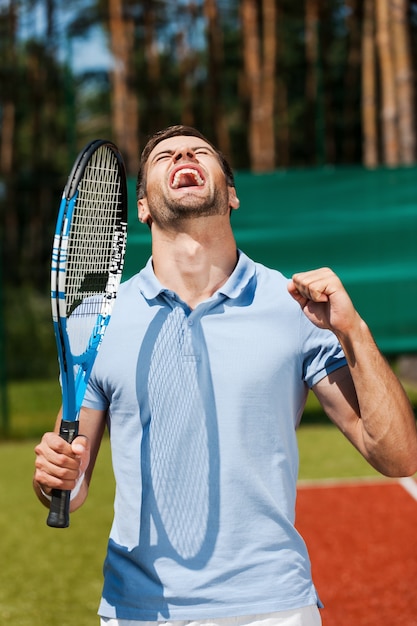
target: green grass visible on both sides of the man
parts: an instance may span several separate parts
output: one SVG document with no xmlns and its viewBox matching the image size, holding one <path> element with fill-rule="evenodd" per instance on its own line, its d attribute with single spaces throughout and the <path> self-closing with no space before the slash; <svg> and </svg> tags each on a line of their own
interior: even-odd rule
<svg viewBox="0 0 417 626">
<path fill-rule="evenodd" d="M 415 390 L 409 393 L 417 401 Z M 47 510 L 32 492 L 33 449 L 55 421 L 59 387 L 49 381 L 16 383 L 10 386 L 8 399 L 10 434 L 0 445 L 0 623 L 98 624 L 101 571 L 113 515 L 108 438 L 103 440 L 86 504 L 72 515 L 68 529 L 48 528 Z M 298 441 L 301 479 L 377 475 L 313 398 Z"/>
</svg>

